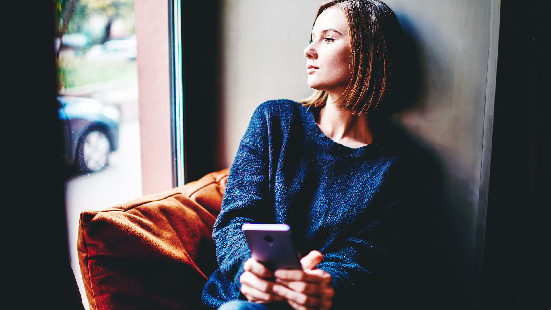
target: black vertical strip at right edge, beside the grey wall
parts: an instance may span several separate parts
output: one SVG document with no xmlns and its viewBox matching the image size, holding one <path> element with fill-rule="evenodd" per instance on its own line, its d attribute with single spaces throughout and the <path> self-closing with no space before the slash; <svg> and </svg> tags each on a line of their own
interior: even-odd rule
<svg viewBox="0 0 551 310">
<path fill-rule="evenodd" d="M 547 1 L 501 1 L 482 309 L 549 309 Z"/>
</svg>

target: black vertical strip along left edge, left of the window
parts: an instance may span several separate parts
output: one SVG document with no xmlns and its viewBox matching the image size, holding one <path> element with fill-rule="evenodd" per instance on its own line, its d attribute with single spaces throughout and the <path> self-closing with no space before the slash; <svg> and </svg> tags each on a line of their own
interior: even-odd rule
<svg viewBox="0 0 551 310">
<path fill-rule="evenodd" d="M 3 308 L 83 309 L 69 264 L 54 1 L 2 18 Z"/>
</svg>

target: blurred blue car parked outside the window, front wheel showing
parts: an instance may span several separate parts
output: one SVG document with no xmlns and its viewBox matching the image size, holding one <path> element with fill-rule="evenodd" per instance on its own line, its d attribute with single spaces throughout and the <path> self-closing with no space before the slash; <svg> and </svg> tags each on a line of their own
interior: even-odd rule
<svg viewBox="0 0 551 310">
<path fill-rule="evenodd" d="M 89 98 L 61 96 L 57 101 L 67 164 L 84 173 L 105 169 L 118 148 L 120 112 Z"/>
</svg>

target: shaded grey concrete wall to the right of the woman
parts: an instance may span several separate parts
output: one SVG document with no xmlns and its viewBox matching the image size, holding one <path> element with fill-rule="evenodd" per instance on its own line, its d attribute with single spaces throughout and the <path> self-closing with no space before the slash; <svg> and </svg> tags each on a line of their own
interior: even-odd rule
<svg viewBox="0 0 551 310">
<path fill-rule="evenodd" d="M 478 300 L 488 181 L 500 1 L 386 3 L 419 51 L 423 90 L 415 108 L 396 118 L 440 158 L 449 190 L 447 212 Z"/>
</svg>

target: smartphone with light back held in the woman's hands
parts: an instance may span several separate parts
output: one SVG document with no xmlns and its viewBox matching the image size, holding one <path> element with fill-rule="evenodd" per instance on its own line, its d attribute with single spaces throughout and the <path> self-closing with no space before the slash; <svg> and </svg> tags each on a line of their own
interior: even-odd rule
<svg viewBox="0 0 551 310">
<path fill-rule="evenodd" d="M 291 228 L 284 224 L 244 224 L 252 258 L 271 271 L 302 269 L 299 254 L 293 247 Z"/>
</svg>

